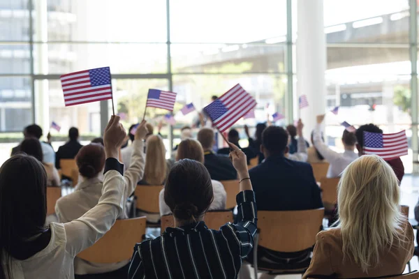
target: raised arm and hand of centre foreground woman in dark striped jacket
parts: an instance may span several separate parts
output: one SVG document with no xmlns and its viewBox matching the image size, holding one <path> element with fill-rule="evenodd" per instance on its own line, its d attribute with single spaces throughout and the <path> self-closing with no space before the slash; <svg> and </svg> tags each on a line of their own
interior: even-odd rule
<svg viewBox="0 0 419 279">
<path fill-rule="evenodd" d="M 223 235 L 240 246 L 240 257 L 246 257 L 253 248 L 253 236 L 257 230 L 257 209 L 256 200 L 251 186 L 249 172 L 247 170 L 247 158 L 234 144 L 229 143 L 233 151 L 230 152 L 230 159 L 233 166 L 237 169 L 240 179 L 240 193 L 237 194 L 237 223 L 227 224 L 221 227 Z"/>
</svg>

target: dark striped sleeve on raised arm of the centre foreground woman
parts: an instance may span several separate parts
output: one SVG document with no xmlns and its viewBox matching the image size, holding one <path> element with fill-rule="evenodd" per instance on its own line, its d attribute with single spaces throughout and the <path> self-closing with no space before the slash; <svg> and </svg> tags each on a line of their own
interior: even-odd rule
<svg viewBox="0 0 419 279">
<path fill-rule="evenodd" d="M 237 223 L 221 227 L 234 232 L 235 241 L 240 245 L 240 257 L 249 255 L 253 248 L 253 236 L 258 229 L 258 218 L 254 192 L 242 191 L 237 194 Z"/>
</svg>

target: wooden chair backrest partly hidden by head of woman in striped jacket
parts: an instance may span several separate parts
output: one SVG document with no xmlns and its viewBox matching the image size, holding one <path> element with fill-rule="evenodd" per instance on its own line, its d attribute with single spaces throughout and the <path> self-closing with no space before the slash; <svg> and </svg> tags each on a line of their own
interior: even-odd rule
<svg viewBox="0 0 419 279">
<path fill-rule="evenodd" d="M 219 230 L 222 225 L 228 222 L 233 223 L 233 212 L 230 210 L 207 211 L 204 220 L 208 229 Z M 173 227 L 175 225 L 172 214 L 161 216 L 160 222 L 161 233 L 163 233 L 167 227 Z"/>
</svg>

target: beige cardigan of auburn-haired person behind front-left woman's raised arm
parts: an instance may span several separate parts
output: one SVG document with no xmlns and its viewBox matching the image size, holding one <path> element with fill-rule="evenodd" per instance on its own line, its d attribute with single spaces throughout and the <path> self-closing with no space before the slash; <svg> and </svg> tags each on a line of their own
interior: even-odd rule
<svg viewBox="0 0 419 279">
<path fill-rule="evenodd" d="M 133 156 L 131 165 L 124 172 L 124 181 L 126 191 L 124 193 L 124 203 L 122 213 L 118 216 L 120 219 L 126 218 L 126 199 L 134 192 L 137 182 L 142 179 L 144 174 L 145 156 L 142 140 L 133 142 Z M 61 197 L 55 206 L 59 222 L 66 223 L 75 220 L 91 208 L 96 206 L 101 197 L 103 183 L 98 177 L 93 179 L 82 179 L 70 195 Z M 122 268 L 128 262 L 118 262 L 115 264 L 96 264 L 84 261 L 75 257 L 74 273 L 83 275 L 91 273 L 105 273 Z"/>
</svg>

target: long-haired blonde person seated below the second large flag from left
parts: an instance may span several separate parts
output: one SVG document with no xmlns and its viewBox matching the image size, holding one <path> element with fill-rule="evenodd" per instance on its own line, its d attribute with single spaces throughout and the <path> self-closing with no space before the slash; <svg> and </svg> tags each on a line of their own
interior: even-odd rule
<svg viewBox="0 0 419 279">
<path fill-rule="evenodd" d="M 138 186 L 161 186 L 165 183 L 170 169 L 169 162 L 166 161 L 166 147 L 163 140 L 158 135 L 151 135 L 145 142 L 145 170 L 144 176 L 138 181 Z M 137 197 L 141 199 L 142 197 Z M 137 216 L 146 216 L 147 222 L 158 223 L 159 213 L 147 213 L 137 209 Z"/>
</svg>

